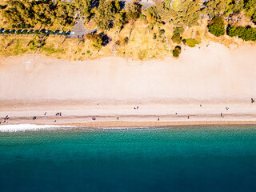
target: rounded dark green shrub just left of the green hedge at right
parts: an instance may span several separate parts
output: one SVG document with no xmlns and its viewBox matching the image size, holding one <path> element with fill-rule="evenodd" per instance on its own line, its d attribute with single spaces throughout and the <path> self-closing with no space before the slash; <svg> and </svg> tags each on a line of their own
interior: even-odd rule
<svg viewBox="0 0 256 192">
<path fill-rule="evenodd" d="M 207 27 L 209 32 L 214 34 L 216 37 L 225 34 L 225 25 L 222 18 L 214 17 Z"/>
</svg>

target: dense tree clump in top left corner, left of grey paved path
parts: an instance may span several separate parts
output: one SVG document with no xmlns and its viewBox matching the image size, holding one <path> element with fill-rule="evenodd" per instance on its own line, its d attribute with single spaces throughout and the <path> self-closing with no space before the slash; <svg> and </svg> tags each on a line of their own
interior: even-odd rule
<svg viewBox="0 0 256 192">
<path fill-rule="evenodd" d="M 74 22 L 74 5 L 30 0 L 10 0 L 2 10 L 2 17 L 13 25 L 66 26 Z"/>
</svg>

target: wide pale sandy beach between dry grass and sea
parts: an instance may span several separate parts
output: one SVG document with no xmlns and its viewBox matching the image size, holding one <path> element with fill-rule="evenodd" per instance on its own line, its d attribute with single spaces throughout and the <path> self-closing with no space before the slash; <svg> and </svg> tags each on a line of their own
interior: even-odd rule
<svg viewBox="0 0 256 192">
<path fill-rule="evenodd" d="M 212 42 L 185 49 L 179 59 L 146 61 L 2 58 L 0 122 L 8 115 L 9 125 L 254 124 L 255 47 L 228 50 Z"/>
</svg>

